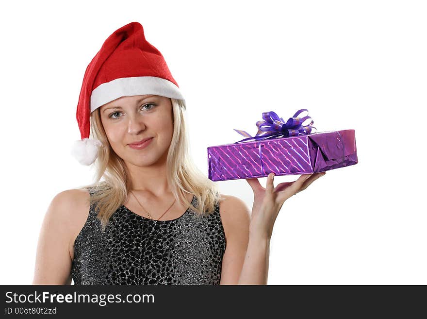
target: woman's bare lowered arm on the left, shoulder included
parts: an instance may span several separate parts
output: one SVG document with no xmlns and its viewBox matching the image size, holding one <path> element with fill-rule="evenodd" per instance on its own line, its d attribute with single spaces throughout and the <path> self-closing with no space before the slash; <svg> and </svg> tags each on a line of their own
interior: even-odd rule
<svg viewBox="0 0 427 319">
<path fill-rule="evenodd" d="M 49 204 L 38 238 L 33 285 L 71 284 L 70 213 L 76 208 L 76 195 L 76 190 L 66 190 Z"/>
</svg>

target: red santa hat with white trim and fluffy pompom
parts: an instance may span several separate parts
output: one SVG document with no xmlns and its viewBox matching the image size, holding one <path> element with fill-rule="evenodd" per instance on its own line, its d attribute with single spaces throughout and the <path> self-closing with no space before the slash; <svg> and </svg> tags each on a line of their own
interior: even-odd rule
<svg viewBox="0 0 427 319">
<path fill-rule="evenodd" d="M 74 142 L 71 151 L 80 164 L 95 162 L 102 146 L 89 138 L 90 114 L 120 97 L 147 94 L 185 103 L 162 53 L 145 39 L 142 25 L 131 22 L 105 40 L 84 73 L 76 113 L 81 140 Z"/>
</svg>

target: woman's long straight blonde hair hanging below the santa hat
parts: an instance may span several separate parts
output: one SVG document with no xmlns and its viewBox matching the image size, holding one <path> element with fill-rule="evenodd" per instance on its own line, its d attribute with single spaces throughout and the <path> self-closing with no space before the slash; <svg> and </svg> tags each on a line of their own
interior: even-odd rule
<svg viewBox="0 0 427 319">
<path fill-rule="evenodd" d="M 213 213 L 221 198 L 217 186 L 208 179 L 192 162 L 189 156 L 188 136 L 185 129 L 183 111 L 186 105 L 182 100 L 170 99 L 172 102 L 174 130 L 166 160 L 166 178 L 175 199 L 186 207 L 194 210 L 197 216 Z M 102 231 L 105 231 L 110 217 L 120 208 L 131 190 L 129 171 L 124 161 L 113 151 L 105 134 L 101 122 L 100 108 L 90 115 L 91 138 L 99 139 L 102 147 L 99 148 L 98 158 L 94 163 L 95 182 L 78 189 L 96 189 L 91 195 L 91 202 L 96 203 L 99 211 Z M 101 181 L 101 178 L 104 178 Z M 197 197 L 197 207 L 187 201 L 185 193 L 192 193 Z"/>
</svg>

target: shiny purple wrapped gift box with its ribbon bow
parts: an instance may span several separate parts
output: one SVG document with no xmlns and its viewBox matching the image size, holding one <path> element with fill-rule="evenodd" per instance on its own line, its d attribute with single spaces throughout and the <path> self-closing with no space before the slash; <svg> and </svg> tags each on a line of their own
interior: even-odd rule
<svg viewBox="0 0 427 319">
<path fill-rule="evenodd" d="M 266 177 L 269 173 L 296 175 L 343 168 L 358 163 L 354 130 L 312 132 L 310 117 L 288 121 L 264 112 L 255 136 L 233 144 L 208 147 L 208 177 L 212 181 Z"/>
</svg>

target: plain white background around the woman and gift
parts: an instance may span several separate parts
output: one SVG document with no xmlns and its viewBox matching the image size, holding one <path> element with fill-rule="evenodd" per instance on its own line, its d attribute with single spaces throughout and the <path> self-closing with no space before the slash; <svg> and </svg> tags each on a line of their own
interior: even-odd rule
<svg viewBox="0 0 427 319">
<path fill-rule="evenodd" d="M 427 284 L 424 1 L 19 1 L 2 7 L 0 284 L 31 284 L 41 222 L 92 182 L 69 155 L 84 71 L 138 21 L 186 96 L 191 152 L 256 133 L 262 113 L 309 109 L 354 129 L 357 165 L 283 204 L 269 285 Z M 298 175 L 299 176 L 299 175 Z M 279 176 L 275 185 L 298 176 Z M 260 179 L 265 186 L 265 178 Z M 245 180 L 218 182 L 252 207 Z"/>
</svg>

